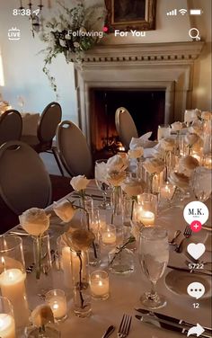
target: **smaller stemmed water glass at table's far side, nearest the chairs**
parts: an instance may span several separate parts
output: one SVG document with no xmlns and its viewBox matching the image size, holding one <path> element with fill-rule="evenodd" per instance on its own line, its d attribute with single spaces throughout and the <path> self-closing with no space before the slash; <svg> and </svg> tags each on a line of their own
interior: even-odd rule
<svg viewBox="0 0 212 338">
<path fill-rule="evenodd" d="M 107 201 L 107 193 L 110 190 L 110 183 L 107 182 L 107 168 L 106 159 L 95 161 L 95 181 L 100 191 L 102 191 L 102 203 L 99 205 L 99 209 L 110 209 L 110 202 Z"/>
</svg>

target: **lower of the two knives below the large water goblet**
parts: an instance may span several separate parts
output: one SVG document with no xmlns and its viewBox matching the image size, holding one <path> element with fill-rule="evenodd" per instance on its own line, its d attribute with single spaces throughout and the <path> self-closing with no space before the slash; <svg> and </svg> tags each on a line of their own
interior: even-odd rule
<svg viewBox="0 0 212 338">
<path fill-rule="evenodd" d="M 151 318 L 151 316 L 148 316 L 148 315 L 144 315 L 144 316 L 136 315 L 136 318 L 139 321 L 144 322 L 146 324 L 155 325 L 157 328 L 158 328 L 157 323 L 159 323 L 162 329 L 176 331 L 179 334 L 180 333 L 187 334 L 187 332 L 189 331 L 189 327 L 190 327 L 188 325 L 181 325 L 181 324 L 174 323 L 174 322 L 171 323 L 170 321 L 162 319 L 162 318 L 158 318 L 157 316 L 152 316 Z M 205 331 L 203 334 L 199 335 L 199 337 L 211 338 L 211 334 Z"/>
</svg>

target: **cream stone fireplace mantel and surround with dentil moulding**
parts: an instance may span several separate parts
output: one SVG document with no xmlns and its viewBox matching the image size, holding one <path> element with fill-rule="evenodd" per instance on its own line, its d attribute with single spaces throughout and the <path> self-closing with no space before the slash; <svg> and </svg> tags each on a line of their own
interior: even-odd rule
<svg viewBox="0 0 212 338">
<path fill-rule="evenodd" d="M 156 100 L 157 108 L 151 107 L 158 115 L 157 118 L 154 115 L 153 124 L 145 120 L 143 129 L 142 120 L 136 122 L 139 133 L 146 129 L 155 132 L 156 123 L 182 120 L 184 111 L 192 108 L 193 64 L 203 45 L 202 41 L 101 45 L 87 51 L 84 62 L 75 63 L 75 91 L 79 127 L 88 144 L 102 147 L 100 139 L 105 126 L 99 127 L 99 120 L 103 120 L 105 114 L 105 93 L 108 97 L 114 95 L 116 102 L 116 105 L 111 104 L 111 120 L 117 106 L 126 106 L 134 114 L 134 107 L 129 108 L 128 101 L 122 103 L 119 98 L 122 100 L 126 96 L 126 100 L 134 104 L 130 95 L 140 95 L 144 102 L 161 95 L 161 101 Z M 143 99 L 145 94 L 147 99 Z M 140 114 L 147 119 L 150 113 L 143 110 L 142 100 L 138 101 L 139 105 L 137 103 L 141 110 L 135 109 L 135 120 L 140 119 Z M 150 110 L 148 106 L 146 109 Z M 116 135 L 114 125 L 111 129 L 111 134 Z"/>
</svg>

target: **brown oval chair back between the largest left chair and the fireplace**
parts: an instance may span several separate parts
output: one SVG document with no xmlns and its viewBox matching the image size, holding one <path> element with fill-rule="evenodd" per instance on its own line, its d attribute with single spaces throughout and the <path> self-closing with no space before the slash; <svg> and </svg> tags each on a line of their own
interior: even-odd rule
<svg viewBox="0 0 212 338">
<path fill-rule="evenodd" d="M 75 123 L 64 120 L 56 133 L 59 158 L 71 176 L 93 177 L 93 158 L 83 132 Z"/>
</svg>

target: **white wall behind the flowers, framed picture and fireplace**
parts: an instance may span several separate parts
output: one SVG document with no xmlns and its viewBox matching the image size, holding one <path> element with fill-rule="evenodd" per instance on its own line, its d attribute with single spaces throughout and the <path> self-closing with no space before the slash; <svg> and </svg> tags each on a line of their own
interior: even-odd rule
<svg viewBox="0 0 212 338">
<path fill-rule="evenodd" d="M 103 0 L 86 1 L 87 4 L 104 3 Z M 34 2 L 37 3 L 37 1 Z M 43 0 L 43 2 L 47 4 L 46 0 Z M 28 1 L 23 0 L 24 3 L 28 4 Z M 51 1 L 51 3 L 54 3 L 54 1 Z M 74 1 L 68 0 L 67 3 L 73 4 Z M 174 8 L 188 8 L 187 3 L 191 8 L 203 8 L 204 14 L 196 17 L 196 22 L 192 22 L 189 15 L 166 15 L 167 11 Z M 26 17 L 13 16 L 13 8 L 17 4 L 17 0 L 0 1 L 0 47 L 4 60 L 5 82 L 1 92 L 4 95 L 4 100 L 9 101 L 14 108 L 19 108 L 17 106 L 17 95 L 22 95 L 26 100 L 26 111 L 42 111 L 47 103 L 56 100 L 56 95 L 52 92 L 49 81 L 42 72 L 43 55 L 38 55 L 40 49 L 44 49 L 46 45 L 38 37 L 35 39 L 31 37 L 31 26 Z M 206 39 L 208 43 L 199 60 L 195 62 L 192 105 L 201 110 L 211 110 L 210 7 L 210 0 L 157 0 L 156 31 L 147 31 L 146 38 L 142 40 L 130 35 L 125 39 L 115 38 L 113 34 L 110 34 L 102 43 L 187 41 L 190 40 L 188 35 L 190 27 L 196 24 L 203 40 Z M 54 8 L 56 10 L 56 7 Z M 51 16 L 51 12 L 46 8 L 44 15 Z M 7 39 L 7 31 L 13 26 L 21 29 L 22 40 L 9 41 Z M 63 108 L 64 119 L 77 121 L 73 65 L 67 65 L 65 58 L 60 55 L 54 60 L 50 70 L 51 74 L 57 79 L 59 102 Z"/>
</svg>

